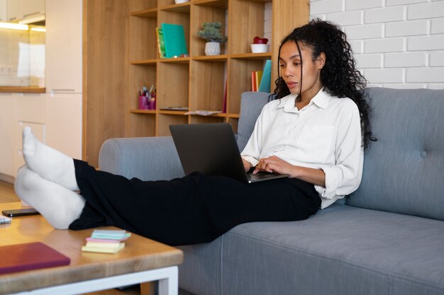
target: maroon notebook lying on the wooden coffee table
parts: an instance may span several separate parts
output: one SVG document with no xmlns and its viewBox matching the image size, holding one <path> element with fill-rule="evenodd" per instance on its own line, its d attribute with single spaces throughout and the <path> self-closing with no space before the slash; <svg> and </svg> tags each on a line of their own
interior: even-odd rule
<svg viewBox="0 0 444 295">
<path fill-rule="evenodd" d="M 0 274 L 69 264 L 70 258 L 40 242 L 0 247 Z"/>
</svg>

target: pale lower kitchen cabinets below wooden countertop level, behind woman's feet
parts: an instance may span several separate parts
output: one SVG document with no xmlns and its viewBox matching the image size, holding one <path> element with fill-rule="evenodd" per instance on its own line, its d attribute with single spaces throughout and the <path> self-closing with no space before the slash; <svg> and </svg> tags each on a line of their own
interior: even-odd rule
<svg viewBox="0 0 444 295">
<path fill-rule="evenodd" d="M 82 94 L 12 93 L 0 96 L 0 108 L 1 174 L 15 177 L 25 163 L 22 131 L 26 126 L 44 144 L 82 158 Z"/>
</svg>

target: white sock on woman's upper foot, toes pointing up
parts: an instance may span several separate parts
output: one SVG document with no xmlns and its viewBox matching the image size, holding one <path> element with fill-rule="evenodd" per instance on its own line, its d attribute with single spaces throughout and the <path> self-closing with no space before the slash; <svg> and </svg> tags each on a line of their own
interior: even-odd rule
<svg viewBox="0 0 444 295">
<path fill-rule="evenodd" d="M 42 144 L 34 137 L 30 127 L 23 128 L 23 157 L 28 168 L 46 180 L 58 183 L 68 190 L 79 190 L 74 160 Z"/>
</svg>

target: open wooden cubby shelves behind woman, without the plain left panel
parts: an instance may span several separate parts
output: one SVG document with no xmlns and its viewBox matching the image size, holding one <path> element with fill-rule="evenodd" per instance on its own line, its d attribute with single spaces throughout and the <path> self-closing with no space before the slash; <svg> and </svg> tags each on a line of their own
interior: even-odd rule
<svg viewBox="0 0 444 295">
<path fill-rule="evenodd" d="M 272 2 L 272 8 L 267 3 Z M 129 13 L 128 137 L 170 135 L 169 125 L 229 122 L 236 131 L 240 96 L 251 90 L 251 72 L 277 57 L 280 40 L 309 20 L 309 0 L 134 0 Z M 265 35 L 266 6 L 272 9 L 272 48 L 251 53 L 255 36 Z M 227 24 L 228 41 L 220 55 L 204 55 L 206 40 L 197 36 L 204 22 Z M 228 22 L 228 23 L 227 23 Z M 155 28 L 162 23 L 184 27 L 189 57 L 159 57 Z M 272 69 L 274 67 L 272 66 Z M 276 79 L 272 74 L 271 81 Z M 155 85 L 157 110 L 137 110 L 138 91 Z M 189 110 L 226 110 L 209 116 L 160 110 L 182 105 Z M 223 109 L 226 105 L 226 109 Z"/>
</svg>

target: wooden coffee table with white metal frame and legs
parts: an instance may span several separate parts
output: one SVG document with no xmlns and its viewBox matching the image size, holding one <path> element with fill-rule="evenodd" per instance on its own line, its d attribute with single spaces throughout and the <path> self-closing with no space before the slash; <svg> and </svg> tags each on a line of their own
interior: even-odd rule
<svg viewBox="0 0 444 295">
<path fill-rule="evenodd" d="M 0 204 L 0 212 L 19 208 L 20 202 Z M 82 294 L 157 280 L 159 294 L 177 295 L 181 250 L 132 234 L 116 254 L 82 252 L 92 231 L 57 230 L 40 215 L 14 217 L 11 224 L 0 224 L 0 246 L 43 242 L 71 258 L 70 265 L 62 267 L 0 274 L 0 295 Z M 141 286 L 142 294 L 151 292 L 152 285 Z"/>
</svg>

